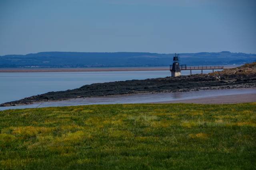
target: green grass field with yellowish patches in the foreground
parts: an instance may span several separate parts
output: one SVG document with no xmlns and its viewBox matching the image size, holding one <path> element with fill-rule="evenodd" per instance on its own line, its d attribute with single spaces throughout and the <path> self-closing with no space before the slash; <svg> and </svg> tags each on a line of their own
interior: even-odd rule
<svg viewBox="0 0 256 170">
<path fill-rule="evenodd" d="M 0 111 L 1 169 L 255 169 L 256 103 Z"/>
</svg>

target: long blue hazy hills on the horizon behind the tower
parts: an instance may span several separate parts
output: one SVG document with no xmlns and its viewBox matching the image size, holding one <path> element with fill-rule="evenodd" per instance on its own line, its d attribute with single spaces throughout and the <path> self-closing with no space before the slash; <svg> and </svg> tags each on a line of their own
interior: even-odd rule
<svg viewBox="0 0 256 170">
<path fill-rule="evenodd" d="M 181 63 L 187 65 L 244 64 L 256 61 L 256 54 L 230 53 L 181 53 Z M 0 68 L 78 68 L 78 67 L 136 67 L 168 66 L 173 54 L 158 53 L 80 53 L 41 52 L 27 55 L 0 56 Z"/>
</svg>

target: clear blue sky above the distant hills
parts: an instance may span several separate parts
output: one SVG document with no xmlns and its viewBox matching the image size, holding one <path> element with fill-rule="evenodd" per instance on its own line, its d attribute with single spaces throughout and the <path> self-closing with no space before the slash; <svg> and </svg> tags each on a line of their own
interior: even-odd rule
<svg viewBox="0 0 256 170">
<path fill-rule="evenodd" d="M 256 0 L 0 0 L 0 55 L 256 53 Z"/>
</svg>

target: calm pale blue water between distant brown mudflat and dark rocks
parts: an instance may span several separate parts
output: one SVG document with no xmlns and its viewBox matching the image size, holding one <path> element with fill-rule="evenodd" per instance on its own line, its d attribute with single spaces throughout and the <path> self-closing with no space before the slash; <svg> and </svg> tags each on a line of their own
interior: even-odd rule
<svg viewBox="0 0 256 170">
<path fill-rule="evenodd" d="M 204 70 L 203 73 L 211 71 Z M 201 70 L 193 70 L 192 74 L 200 72 Z M 190 71 L 182 71 L 182 75 L 187 74 Z M 0 73 L 0 103 L 51 91 L 79 88 L 85 84 L 166 76 L 170 76 L 170 71 Z"/>
</svg>

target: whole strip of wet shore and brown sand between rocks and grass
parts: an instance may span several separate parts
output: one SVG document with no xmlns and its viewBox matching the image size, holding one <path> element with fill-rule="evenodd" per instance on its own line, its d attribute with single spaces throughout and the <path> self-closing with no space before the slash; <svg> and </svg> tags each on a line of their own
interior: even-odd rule
<svg viewBox="0 0 256 170">
<path fill-rule="evenodd" d="M 234 104 L 256 102 L 256 88 L 223 90 L 199 90 L 190 92 L 138 93 L 112 96 L 75 98 L 51 102 L 34 102 L 28 105 L 5 106 L 0 110 L 38 107 L 80 106 L 94 104 L 142 104 L 142 103 L 195 103 Z"/>
</svg>

